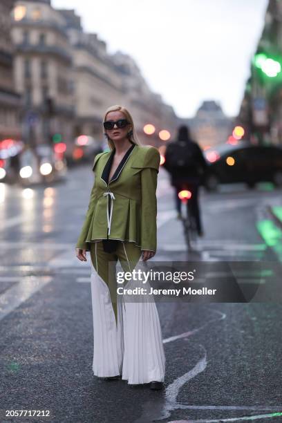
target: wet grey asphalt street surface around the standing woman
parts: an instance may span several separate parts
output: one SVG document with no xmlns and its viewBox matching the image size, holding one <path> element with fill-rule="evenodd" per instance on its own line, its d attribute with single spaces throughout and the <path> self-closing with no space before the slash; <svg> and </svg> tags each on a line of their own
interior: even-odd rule
<svg viewBox="0 0 282 423">
<path fill-rule="evenodd" d="M 158 303 L 165 390 L 93 376 L 90 257 L 74 251 L 91 184 L 80 167 L 53 188 L 1 186 L 0 421 L 282 422 L 281 303 Z M 279 204 L 269 185 L 202 193 L 205 237 L 188 259 L 255 259 L 281 272 L 281 243 L 267 245 L 264 229 Z M 164 171 L 154 260 L 187 260 Z M 50 417 L 5 417 L 21 409 Z"/>
</svg>

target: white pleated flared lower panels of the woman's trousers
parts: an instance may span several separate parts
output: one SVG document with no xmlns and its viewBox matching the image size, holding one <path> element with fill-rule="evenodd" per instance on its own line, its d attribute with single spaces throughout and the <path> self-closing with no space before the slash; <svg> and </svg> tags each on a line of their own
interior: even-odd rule
<svg viewBox="0 0 282 423">
<path fill-rule="evenodd" d="M 137 286 L 129 281 L 126 288 Z M 144 285 L 143 285 L 144 288 Z M 149 285 L 147 284 L 149 289 Z M 98 377 L 122 375 L 129 384 L 163 382 L 164 348 L 158 310 L 153 297 L 140 302 L 118 295 L 118 324 L 109 288 L 91 264 L 93 307 L 93 373 Z"/>
</svg>

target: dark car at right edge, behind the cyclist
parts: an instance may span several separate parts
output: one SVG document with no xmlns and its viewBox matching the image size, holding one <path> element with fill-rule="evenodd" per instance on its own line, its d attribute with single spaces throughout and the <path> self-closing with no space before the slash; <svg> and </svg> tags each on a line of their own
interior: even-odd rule
<svg viewBox="0 0 282 423">
<path fill-rule="evenodd" d="M 245 182 L 252 188 L 256 182 L 274 182 L 282 186 L 282 148 L 274 145 L 220 144 L 204 151 L 209 169 L 205 187 L 212 191 L 218 184 Z"/>
</svg>

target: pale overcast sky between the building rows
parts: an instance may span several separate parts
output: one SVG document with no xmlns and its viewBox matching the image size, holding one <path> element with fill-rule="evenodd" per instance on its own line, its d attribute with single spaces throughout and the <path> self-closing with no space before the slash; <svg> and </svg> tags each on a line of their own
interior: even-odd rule
<svg viewBox="0 0 282 423">
<path fill-rule="evenodd" d="M 180 117 L 203 100 L 236 115 L 267 0 L 53 0 L 75 9 L 109 53 L 131 55 L 153 91 Z"/>
</svg>

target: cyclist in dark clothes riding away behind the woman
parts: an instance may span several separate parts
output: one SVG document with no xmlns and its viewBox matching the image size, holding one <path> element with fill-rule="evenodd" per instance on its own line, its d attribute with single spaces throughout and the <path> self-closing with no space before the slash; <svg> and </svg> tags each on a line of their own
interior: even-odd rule
<svg viewBox="0 0 282 423">
<path fill-rule="evenodd" d="M 180 126 L 177 140 L 167 146 L 164 154 L 164 168 L 171 174 L 171 185 L 175 187 L 175 200 L 178 218 L 181 216 L 181 200 L 178 192 L 183 184 L 191 191 L 189 207 L 196 220 L 196 229 L 199 236 L 203 236 L 198 203 L 198 188 L 207 169 L 207 162 L 198 144 L 191 140 L 189 127 Z M 188 207 L 187 203 L 187 207 Z"/>
</svg>

